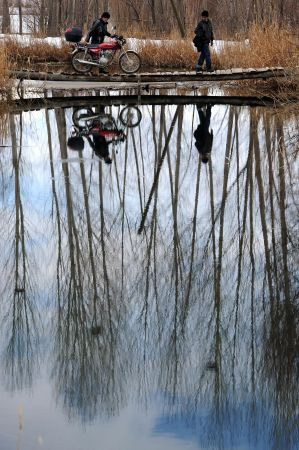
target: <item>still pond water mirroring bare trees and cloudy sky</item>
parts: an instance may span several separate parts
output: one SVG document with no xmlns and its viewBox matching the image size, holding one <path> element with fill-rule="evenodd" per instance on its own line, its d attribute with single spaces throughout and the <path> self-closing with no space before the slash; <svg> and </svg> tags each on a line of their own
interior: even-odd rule
<svg viewBox="0 0 299 450">
<path fill-rule="evenodd" d="M 298 117 L 85 106 L 1 117 L 0 449 L 299 448 Z"/>
</svg>

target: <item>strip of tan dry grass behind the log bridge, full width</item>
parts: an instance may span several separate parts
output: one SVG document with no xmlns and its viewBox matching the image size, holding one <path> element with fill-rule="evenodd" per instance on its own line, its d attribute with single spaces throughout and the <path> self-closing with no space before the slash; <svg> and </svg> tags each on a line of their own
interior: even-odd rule
<svg viewBox="0 0 299 450">
<path fill-rule="evenodd" d="M 299 30 L 281 29 L 277 24 L 261 28 L 251 25 L 246 35 L 234 35 L 227 40 L 215 40 L 211 47 L 215 70 L 234 67 L 296 67 L 299 65 Z M 197 51 L 192 36 L 180 39 L 128 39 L 144 67 L 152 69 L 194 68 Z M 42 62 L 69 62 L 72 46 L 63 38 L 34 38 L 1 35 L 0 48 L 5 48 L 9 60 L 20 66 Z"/>
</svg>

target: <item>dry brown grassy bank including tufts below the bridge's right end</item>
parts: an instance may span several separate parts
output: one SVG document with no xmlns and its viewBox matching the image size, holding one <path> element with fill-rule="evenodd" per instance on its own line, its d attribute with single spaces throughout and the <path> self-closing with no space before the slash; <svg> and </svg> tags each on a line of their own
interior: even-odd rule
<svg viewBox="0 0 299 450">
<path fill-rule="evenodd" d="M 198 54 L 191 37 L 182 40 L 171 36 L 165 40 L 129 39 L 128 45 L 141 56 L 142 71 L 192 70 Z M 215 70 L 231 68 L 285 67 L 286 76 L 268 81 L 241 81 L 253 91 L 270 90 L 273 95 L 299 98 L 298 38 L 293 30 L 281 30 L 276 24 L 261 29 L 252 25 L 246 36 L 215 41 L 212 60 Z M 62 38 L 9 37 L 0 42 L 0 82 L 2 89 L 10 85 L 9 70 L 37 72 L 72 71 L 72 46 Z M 117 68 L 116 68 L 117 71 Z M 112 68 L 113 73 L 113 68 Z M 236 83 L 238 83 L 236 81 Z"/>
</svg>

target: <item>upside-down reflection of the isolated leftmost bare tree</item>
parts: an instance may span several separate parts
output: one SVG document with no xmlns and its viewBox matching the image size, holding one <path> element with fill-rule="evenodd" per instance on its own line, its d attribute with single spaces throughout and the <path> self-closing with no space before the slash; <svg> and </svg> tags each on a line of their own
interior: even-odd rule
<svg viewBox="0 0 299 450">
<path fill-rule="evenodd" d="M 22 389 L 31 386 L 33 373 L 38 364 L 38 313 L 34 299 L 34 286 L 30 265 L 29 237 L 26 231 L 25 214 L 21 194 L 22 157 L 22 116 L 20 116 L 19 142 L 14 116 L 10 116 L 12 167 L 14 174 L 14 220 L 11 215 L 6 227 L 10 228 L 7 237 L 6 260 L 2 268 L 4 283 L 5 327 L 4 373 L 9 389 Z M 12 225 L 13 222 L 13 225 Z M 11 246 L 9 243 L 11 242 Z"/>
</svg>

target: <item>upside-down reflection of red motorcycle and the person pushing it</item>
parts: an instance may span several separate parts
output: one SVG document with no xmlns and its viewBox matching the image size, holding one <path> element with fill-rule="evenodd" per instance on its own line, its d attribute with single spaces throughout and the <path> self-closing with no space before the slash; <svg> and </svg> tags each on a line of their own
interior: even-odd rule
<svg viewBox="0 0 299 450">
<path fill-rule="evenodd" d="M 94 112 L 91 108 L 79 108 L 73 112 L 72 118 L 74 131 L 68 139 L 68 147 L 82 151 L 85 137 L 95 154 L 111 164 L 109 145 L 126 139 L 124 130 L 118 126 L 112 114 L 105 113 L 105 107 L 101 107 L 99 112 Z M 138 126 L 141 118 L 141 111 L 135 106 L 127 106 L 119 114 L 121 124 L 128 128 Z"/>
</svg>

